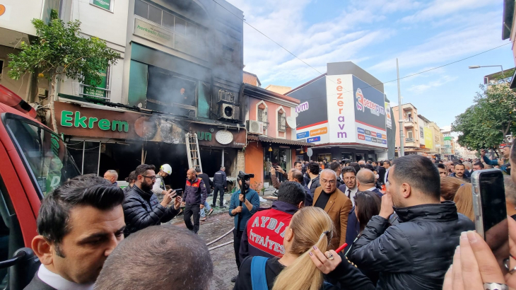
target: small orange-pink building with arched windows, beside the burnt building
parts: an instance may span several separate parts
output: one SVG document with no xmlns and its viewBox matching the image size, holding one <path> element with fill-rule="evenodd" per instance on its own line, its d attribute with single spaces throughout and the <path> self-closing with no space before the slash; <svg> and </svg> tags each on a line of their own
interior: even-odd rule
<svg viewBox="0 0 516 290">
<path fill-rule="evenodd" d="M 256 185 L 270 185 L 271 166 L 290 170 L 313 144 L 295 140 L 295 108 L 300 100 L 259 88 L 253 85 L 257 80 L 249 77 L 252 74 L 246 74 L 249 83 L 242 86 L 247 124 L 245 170 L 254 173 Z M 279 174 L 278 178 L 283 180 Z"/>
</svg>

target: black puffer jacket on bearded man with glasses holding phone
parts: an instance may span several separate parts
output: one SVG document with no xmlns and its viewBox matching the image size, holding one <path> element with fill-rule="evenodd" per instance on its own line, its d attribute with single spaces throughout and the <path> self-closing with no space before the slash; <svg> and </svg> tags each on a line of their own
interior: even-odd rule
<svg viewBox="0 0 516 290">
<path fill-rule="evenodd" d="M 158 197 L 149 190 L 144 192 L 136 185 L 125 195 L 124 204 L 125 230 L 124 236 L 129 236 L 148 226 L 156 226 L 170 221 L 177 216 L 179 209 L 165 208 L 158 202 Z"/>
</svg>

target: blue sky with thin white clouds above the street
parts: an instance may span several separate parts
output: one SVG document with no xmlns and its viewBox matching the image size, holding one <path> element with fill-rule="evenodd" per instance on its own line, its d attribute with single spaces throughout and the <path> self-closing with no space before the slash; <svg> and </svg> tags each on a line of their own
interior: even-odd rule
<svg viewBox="0 0 516 290">
<path fill-rule="evenodd" d="M 470 105 L 483 76 L 515 66 L 510 40 L 502 40 L 502 0 L 227 0 L 245 20 L 304 62 L 244 24 L 245 71 L 262 87 L 293 88 L 326 73 L 329 62 L 351 61 L 385 83 L 402 103 L 439 127 L 450 126 Z"/>
</svg>

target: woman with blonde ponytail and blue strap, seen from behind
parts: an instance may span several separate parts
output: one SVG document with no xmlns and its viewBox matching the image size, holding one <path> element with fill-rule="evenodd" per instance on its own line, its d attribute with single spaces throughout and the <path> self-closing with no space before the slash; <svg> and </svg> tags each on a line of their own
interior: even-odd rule
<svg viewBox="0 0 516 290">
<path fill-rule="evenodd" d="M 283 232 L 283 245 L 271 245 L 279 246 L 284 251 L 283 256 L 271 259 L 246 257 L 234 289 L 339 289 L 324 282 L 323 273 L 339 282 L 340 289 L 374 289 L 360 270 L 347 260 L 343 262 L 334 250 L 329 250 L 333 233 L 332 219 L 324 210 L 303 207 L 293 215 L 291 224 Z"/>
</svg>

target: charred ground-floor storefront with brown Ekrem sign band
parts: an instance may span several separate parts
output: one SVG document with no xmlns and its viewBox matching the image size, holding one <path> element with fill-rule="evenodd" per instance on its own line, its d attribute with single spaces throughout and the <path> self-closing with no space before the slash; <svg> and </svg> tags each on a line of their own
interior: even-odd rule
<svg viewBox="0 0 516 290">
<path fill-rule="evenodd" d="M 212 177 L 224 165 L 229 178 L 237 175 L 245 129 L 93 104 L 55 105 L 59 132 L 83 174 L 117 170 L 123 180 L 142 163 L 157 168 L 168 163 L 172 175 L 165 184 L 183 187 L 189 168 L 185 135 L 190 132 L 199 138 L 204 173 Z"/>
</svg>

